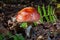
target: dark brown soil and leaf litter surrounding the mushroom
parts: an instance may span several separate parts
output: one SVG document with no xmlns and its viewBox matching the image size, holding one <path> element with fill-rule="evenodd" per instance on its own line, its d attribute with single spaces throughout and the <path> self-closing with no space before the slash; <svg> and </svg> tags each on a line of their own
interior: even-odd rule
<svg viewBox="0 0 60 40">
<path fill-rule="evenodd" d="M 20 0 L 19 0 L 20 1 Z M 11 32 L 13 35 L 22 34 L 26 40 L 60 40 L 60 21 L 58 20 L 56 23 L 44 23 L 38 24 L 36 27 L 32 27 L 32 31 L 30 37 L 27 37 L 25 34 L 25 29 L 20 28 L 19 23 L 14 22 L 12 17 L 16 15 L 16 13 L 24 7 L 32 6 L 37 9 L 37 6 L 44 3 L 45 6 L 49 4 L 50 1 L 44 0 L 21 0 L 15 2 L 5 2 L 1 1 L 1 9 L 0 9 L 0 33 L 4 36 L 7 35 L 7 32 Z M 50 4 L 53 7 L 54 4 Z M 14 24 L 14 25 L 13 25 Z M 14 26 L 14 27 L 12 27 Z M 6 37 L 6 40 L 13 40 L 13 38 Z"/>
</svg>

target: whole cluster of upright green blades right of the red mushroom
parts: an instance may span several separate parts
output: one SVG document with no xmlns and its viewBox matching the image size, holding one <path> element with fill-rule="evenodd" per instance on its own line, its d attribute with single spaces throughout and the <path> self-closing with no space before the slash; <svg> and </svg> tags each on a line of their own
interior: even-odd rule
<svg viewBox="0 0 60 40">
<path fill-rule="evenodd" d="M 43 15 L 42 15 L 42 11 L 43 11 Z M 44 18 L 47 20 L 47 22 L 56 22 L 56 16 L 54 14 L 55 9 L 53 9 L 52 6 L 48 5 L 47 10 L 43 4 L 42 8 L 40 6 L 38 6 L 38 12 L 40 13 L 40 23 L 44 23 Z"/>
</svg>

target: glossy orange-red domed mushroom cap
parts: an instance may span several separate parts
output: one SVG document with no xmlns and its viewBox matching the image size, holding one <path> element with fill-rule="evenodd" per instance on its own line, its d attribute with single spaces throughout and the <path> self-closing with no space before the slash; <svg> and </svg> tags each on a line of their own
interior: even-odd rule
<svg viewBox="0 0 60 40">
<path fill-rule="evenodd" d="M 39 13 L 33 7 L 26 7 L 16 15 L 17 22 L 34 22 L 40 19 Z"/>
</svg>

